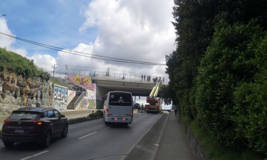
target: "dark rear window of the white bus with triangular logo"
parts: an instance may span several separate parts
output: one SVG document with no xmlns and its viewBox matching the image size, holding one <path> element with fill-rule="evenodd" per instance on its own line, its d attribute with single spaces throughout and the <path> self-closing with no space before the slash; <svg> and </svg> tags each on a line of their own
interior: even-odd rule
<svg viewBox="0 0 267 160">
<path fill-rule="evenodd" d="M 109 105 L 111 105 L 111 106 L 131 106 L 132 105 L 131 93 L 110 92 Z"/>
</svg>

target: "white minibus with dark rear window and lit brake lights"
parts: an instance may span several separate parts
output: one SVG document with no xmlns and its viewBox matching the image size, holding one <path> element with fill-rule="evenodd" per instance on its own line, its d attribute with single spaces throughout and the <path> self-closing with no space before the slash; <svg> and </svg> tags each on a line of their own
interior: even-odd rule
<svg viewBox="0 0 267 160">
<path fill-rule="evenodd" d="M 133 96 L 130 92 L 108 92 L 104 99 L 103 118 L 105 124 L 108 122 L 125 123 L 133 122 L 134 104 Z"/>
</svg>

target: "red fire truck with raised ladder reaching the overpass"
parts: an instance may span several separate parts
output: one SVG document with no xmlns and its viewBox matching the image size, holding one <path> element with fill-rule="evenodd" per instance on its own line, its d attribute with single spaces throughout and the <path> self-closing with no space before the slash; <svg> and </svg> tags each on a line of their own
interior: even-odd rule
<svg viewBox="0 0 267 160">
<path fill-rule="evenodd" d="M 147 113 L 151 112 L 159 113 L 161 111 L 161 100 L 157 98 L 158 88 L 160 84 L 161 84 L 161 79 L 157 81 L 157 84 L 155 87 L 153 87 L 150 95 L 146 97 L 146 103 L 149 103 L 145 105 Z"/>
</svg>

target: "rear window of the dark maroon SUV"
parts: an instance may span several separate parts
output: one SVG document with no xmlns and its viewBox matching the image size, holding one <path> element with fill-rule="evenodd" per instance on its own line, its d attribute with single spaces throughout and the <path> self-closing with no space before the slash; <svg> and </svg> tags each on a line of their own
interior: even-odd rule
<svg viewBox="0 0 267 160">
<path fill-rule="evenodd" d="M 19 111 L 13 112 L 9 118 L 13 120 L 33 120 L 39 118 L 40 115 L 39 112 Z"/>
</svg>

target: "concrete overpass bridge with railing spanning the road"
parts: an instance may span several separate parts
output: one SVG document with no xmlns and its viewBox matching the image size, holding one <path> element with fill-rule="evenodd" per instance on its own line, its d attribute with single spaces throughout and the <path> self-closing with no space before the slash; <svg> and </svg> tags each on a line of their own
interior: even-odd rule
<svg viewBox="0 0 267 160">
<path fill-rule="evenodd" d="M 147 77 L 144 81 L 141 75 L 132 74 L 119 74 L 119 73 L 107 73 L 100 71 L 88 71 L 69 68 L 67 74 L 78 75 L 83 77 L 91 77 L 91 83 L 95 83 L 96 92 L 103 95 L 109 91 L 124 91 L 131 92 L 134 96 L 149 96 L 151 90 L 156 84 L 154 82 L 159 76 L 151 76 L 150 81 L 147 81 Z M 162 85 L 168 85 L 168 78 L 161 77 Z M 159 90 L 158 95 L 161 94 Z"/>
</svg>

